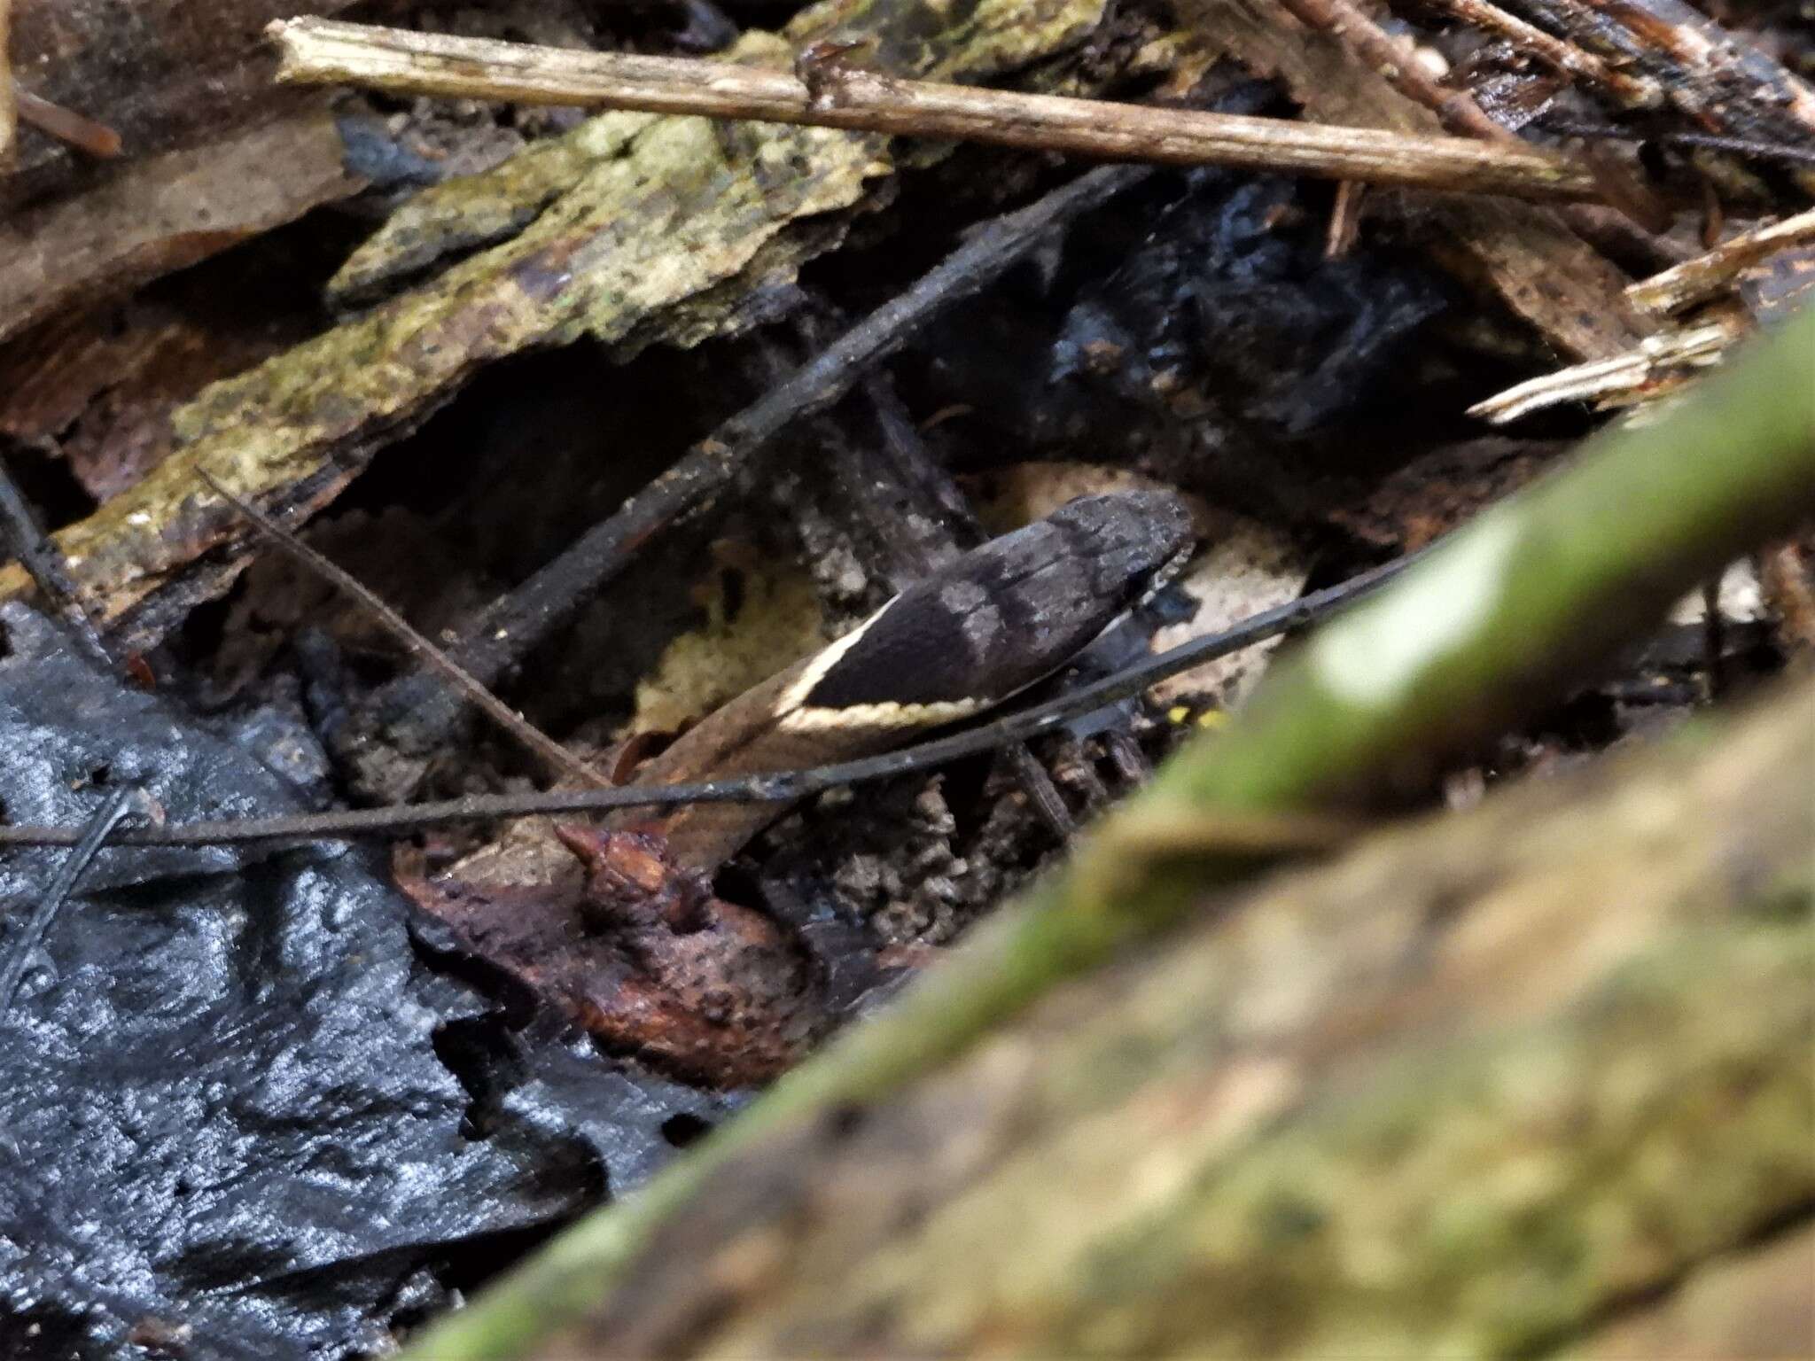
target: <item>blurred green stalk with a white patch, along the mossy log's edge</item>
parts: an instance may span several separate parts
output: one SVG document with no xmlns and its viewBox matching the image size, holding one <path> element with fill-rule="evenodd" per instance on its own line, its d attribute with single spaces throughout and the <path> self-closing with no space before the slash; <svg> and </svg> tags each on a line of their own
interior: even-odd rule
<svg viewBox="0 0 1815 1361">
<path fill-rule="evenodd" d="M 728 1154 L 931 1071 L 1254 866 L 1212 849 L 1136 855 L 1123 827 L 1156 811 L 1214 826 L 1220 809 L 1305 809 L 1421 778 L 1443 753 L 1554 700 L 1655 626 L 1681 593 L 1810 515 L 1815 308 L 1657 423 L 1590 439 L 1568 468 L 1320 630 L 1274 668 L 1236 724 L 1172 759 L 1062 873 L 633 1198 L 584 1218 L 432 1327 L 408 1356 L 510 1357 L 568 1327 Z"/>
</svg>

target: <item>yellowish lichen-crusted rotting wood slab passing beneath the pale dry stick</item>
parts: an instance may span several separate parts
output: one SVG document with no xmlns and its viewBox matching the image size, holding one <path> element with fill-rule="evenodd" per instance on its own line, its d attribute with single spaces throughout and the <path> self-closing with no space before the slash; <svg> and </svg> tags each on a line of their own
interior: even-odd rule
<svg viewBox="0 0 1815 1361">
<path fill-rule="evenodd" d="M 837 31 L 877 36 L 911 74 L 987 78 L 1080 42 L 1102 4 L 982 0 L 962 22 L 942 15 L 839 0 L 784 36 L 746 34 L 735 56 L 786 64 Z M 628 356 L 735 328 L 746 292 L 791 278 L 837 240 L 831 214 L 860 207 L 895 171 L 884 140 L 828 129 L 750 127 L 733 145 L 697 118 L 603 114 L 566 142 L 597 154 L 570 158 L 570 178 L 519 234 L 205 388 L 172 414 L 176 446 L 154 472 L 58 532 L 102 622 L 145 646 L 243 566 L 221 550 L 247 532 L 225 504 L 198 504 L 194 466 L 303 519 L 486 363 L 583 336 Z M 24 588 L 16 568 L 0 572 L 0 597 Z"/>
</svg>

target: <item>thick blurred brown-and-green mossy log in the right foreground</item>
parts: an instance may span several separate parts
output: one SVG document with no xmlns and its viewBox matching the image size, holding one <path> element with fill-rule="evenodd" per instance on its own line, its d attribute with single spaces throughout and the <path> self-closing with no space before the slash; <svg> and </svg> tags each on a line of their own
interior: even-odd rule
<svg viewBox="0 0 1815 1361">
<path fill-rule="evenodd" d="M 947 1071 L 746 1141 L 579 1317 L 421 1354 L 1594 1350 L 1815 1216 L 1811 789 L 1802 682 L 1203 896 Z"/>
</svg>

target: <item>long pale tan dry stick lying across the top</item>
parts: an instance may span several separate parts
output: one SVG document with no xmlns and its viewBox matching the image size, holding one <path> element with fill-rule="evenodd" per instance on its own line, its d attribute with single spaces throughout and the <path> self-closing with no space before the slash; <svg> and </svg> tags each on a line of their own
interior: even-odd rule
<svg viewBox="0 0 1815 1361">
<path fill-rule="evenodd" d="M 1523 142 L 1320 127 L 1198 109 L 898 80 L 842 65 L 811 83 L 784 71 L 673 56 L 407 33 L 323 18 L 278 20 L 278 80 L 517 103 L 755 118 L 866 132 L 987 142 L 1165 165 L 1234 165 L 1535 200 L 1597 198 L 1594 176 Z"/>
</svg>

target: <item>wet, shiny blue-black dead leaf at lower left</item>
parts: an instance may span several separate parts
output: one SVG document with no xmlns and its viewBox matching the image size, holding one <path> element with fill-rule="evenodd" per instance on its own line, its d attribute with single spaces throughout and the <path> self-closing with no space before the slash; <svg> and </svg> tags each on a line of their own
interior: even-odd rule
<svg viewBox="0 0 1815 1361">
<path fill-rule="evenodd" d="M 319 751 L 280 710 L 200 722 L 0 624 L 11 820 L 123 782 L 172 818 L 309 806 Z M 0 860 L 0 953 L 58 855 Z M 0 1356 L 381 1348 L 735 1102 L 506 1029 L 408 913 L 372 847 L 100 853 L 0 1016 Z"/>
</svg>

